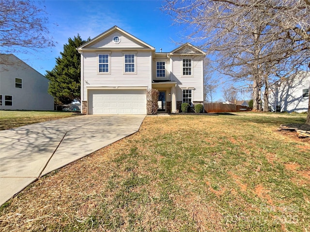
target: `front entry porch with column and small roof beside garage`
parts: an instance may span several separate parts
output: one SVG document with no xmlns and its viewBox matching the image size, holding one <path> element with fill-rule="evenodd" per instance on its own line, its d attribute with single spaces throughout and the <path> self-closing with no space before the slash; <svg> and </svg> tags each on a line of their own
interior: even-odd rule
<svg viewBox="0 0 310 232">
<path fill-rule="evenodd" d="M 176 82 L 152 83 L 152 88 L 159 91 L 158 113 L 176 113 Z"/>
</svg>

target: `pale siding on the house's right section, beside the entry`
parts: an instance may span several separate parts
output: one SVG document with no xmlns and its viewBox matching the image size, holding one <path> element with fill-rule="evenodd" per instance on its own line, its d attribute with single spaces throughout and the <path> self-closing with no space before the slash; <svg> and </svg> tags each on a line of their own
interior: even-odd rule
<svg viewBox="0 0 310 232">
<path fill-rule="evenodd" d="M 191 76 L 183 76 L 182 72 L 182 60 L 183 58 L 191 58 L 193 60 Z M 176 99 L 182 101 L 182 88 L 195 88 L 193 91 L 193 101 L 203 101 L 203 62 L 201 58 L 194 58 L 193 56 L 173 56 L 172 57 L 172 80 L 177 82 Z"/>
</svg>

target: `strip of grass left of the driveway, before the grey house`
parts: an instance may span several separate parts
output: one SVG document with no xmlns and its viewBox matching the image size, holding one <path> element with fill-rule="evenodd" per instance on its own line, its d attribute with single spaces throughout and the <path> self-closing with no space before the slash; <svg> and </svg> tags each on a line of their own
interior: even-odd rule
<svg viewBox="0 0 310 232">
<path fill-rule="evenodd" d="M 77 116 L 79 113 L 60 111 L 16 111 L 0 110 L 0 131 L 33 123 L 45 122 L 64 117 Z"/>
</svg>

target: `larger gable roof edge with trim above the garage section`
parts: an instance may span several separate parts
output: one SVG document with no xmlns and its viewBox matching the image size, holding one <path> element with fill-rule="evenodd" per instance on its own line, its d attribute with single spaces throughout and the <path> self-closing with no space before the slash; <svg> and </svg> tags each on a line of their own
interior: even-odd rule
<svg viewBox="0 0 310 232">
<path fill-rule="evenodd" d="M 120 32 L 122 34 L 124 34 L 125 36 L 127 36 L 128 38 L 130 38 L 131 40 L 135 41 L 136 43 L 140 43 L 144 46 L 146 46 L 147 48 L 150 48 L 151 50 L 155 50 L 155 47 L 145 43 L 144 41 L 138 39 L 137 37 L 129 34 L 128 32 L 124 31 L 123 29 L 120 29 L 119 27 L 117 26 L 114 26 L 108 30 L 106 30 L 105 32 L 101 33 L 100 35 L 96 36 L 95 38 L 93 38 L 92 40 L 90 40 L 89 42 L 87 43 L 84 43 L 83 45 L 79 46 L 77 48 L 78 51 L 81 51 L 83 50 L 83 48 L 86 48 L 86 47 L 89 47 L 90 45 L 94 44 L 94 43 L 97 43 L 101 40 L 103 40 L 105 37 L 107 37 L 108 35 L 110 35 L 111 33 L 114 33 L 114 32 Z"/>
</svg>

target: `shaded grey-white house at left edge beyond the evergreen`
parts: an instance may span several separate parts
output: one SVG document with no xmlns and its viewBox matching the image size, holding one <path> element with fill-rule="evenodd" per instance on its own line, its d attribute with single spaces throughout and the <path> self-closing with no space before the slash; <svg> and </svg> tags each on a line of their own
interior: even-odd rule
<svg viewBox="0 0 310 232">
<path fill-rule="evenodd" d="M 54 110 L 48 79 L 13 54 L 0 54 L 0 109 Z"/>
</svg>

